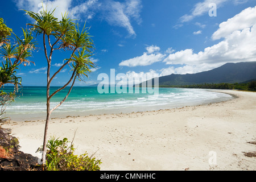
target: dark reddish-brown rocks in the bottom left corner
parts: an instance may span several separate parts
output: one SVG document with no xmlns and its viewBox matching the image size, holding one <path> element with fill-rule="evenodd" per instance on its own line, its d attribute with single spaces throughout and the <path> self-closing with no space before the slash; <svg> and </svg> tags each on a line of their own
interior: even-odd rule
<svg viewBox="0 0 256 182">
<path fill-rule="evenodd" d="M 36 169 L 38 158 L 19 151 L 19 140 L 10 129 L 0 126 L 0 171 L 30 171 Z"/>
</svg>

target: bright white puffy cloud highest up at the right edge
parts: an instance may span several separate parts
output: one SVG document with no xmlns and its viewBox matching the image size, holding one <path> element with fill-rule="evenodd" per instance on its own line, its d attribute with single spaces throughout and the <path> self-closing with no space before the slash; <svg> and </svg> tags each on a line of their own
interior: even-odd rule
<svg viewBox="0 0 256 182">
<path fill-rule="evenodd" d="M 248 7 L 240 14 L 237 14 L 233 18 L 228 19 L 226 22 L 222 22 L 216 32 L 212 35 L 213 40 L 225 38 L 232 34 L 234 31 L 240 31 L 244 28 L 252 27 L 256 22 L 256 6 Z"/>
</svg>

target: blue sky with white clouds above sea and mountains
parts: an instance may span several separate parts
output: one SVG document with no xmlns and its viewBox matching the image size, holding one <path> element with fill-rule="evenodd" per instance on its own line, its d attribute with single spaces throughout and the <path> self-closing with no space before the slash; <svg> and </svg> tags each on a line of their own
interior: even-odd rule
<svg viewBox="0 0 256 182">
<path fill-rule="evenodd" d="M 110 75 L 110 69 L 139 78 L 147 73 L 197 73 L 225 63 L 256 61 L 256 0 L 10 0 L 1 1 L 0 17 L 20 35 L 22 27 L 31 23 L 21 9 L 38 12 L 42 5 L 57 6 L 57 18 L 68 11 L 71 18 L 81 25 L 86 20 L 90 27 L 97 69 L 76 86 L 96 84 L 98 75 Z M 23 86 L 46 86 L 42 36 L 36 41 L 41 49 L 30 58 L 35 65 L 18 71 Z M 55 52 L 52 71 L 67 57 L 68 52 Z M 70 76 L 67 67 L 52 85 L 63 85 Z"/>
</svg>

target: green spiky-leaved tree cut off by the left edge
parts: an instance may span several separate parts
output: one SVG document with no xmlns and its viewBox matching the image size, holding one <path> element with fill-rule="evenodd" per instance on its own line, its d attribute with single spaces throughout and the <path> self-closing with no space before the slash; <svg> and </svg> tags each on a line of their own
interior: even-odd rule
<svg viewBox="0 0 256 182">
<path fill-rule="evenodd" d="M 18 90 L 18 86 L 21 85 L 21 77 L 16 77 L 16 71 L 19 69 L 19 65 L 28 65 L 32 62 L 28 60 L 28 57 L 32 55 L 31 52 L 35 49 L 35 42 L 32 42 L 34 37 L 31 31 L 22 30 L 23 36 L 19 38 L 13 33 L 11 28 L 3 23 L 3 19 L 0 18 L 0 55 L 2 57 L 0 88 L 5 86 L 5 84 L 14 85 L 14 92 L 6 93 L 1 91 L 0 93 L 0 117 L 5 113 L 6 106 L 14 102 L 16 97 L 15 92 Z M 14 34 L 16 37 L 14 43 L 10 41 L 11 34 Z"/>
</svg>

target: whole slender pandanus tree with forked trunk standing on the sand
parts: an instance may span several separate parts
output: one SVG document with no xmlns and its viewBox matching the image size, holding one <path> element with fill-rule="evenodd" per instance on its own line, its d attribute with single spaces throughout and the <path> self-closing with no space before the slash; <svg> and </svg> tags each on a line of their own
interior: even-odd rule
<svg viewBox="0 0 256 182">
<path fill-rule="evenodd" d="M 42 35 L 44 55 L 47 61 L 47 114 L 43 140 L 43 165 L 46 164 L 47 131 L 52 111 L 57 109 L 67 99 L 75 81 L 84 81 L 84 78 L 88 77 L 88 74 L 91 72 L 90 69 L 94 68 L 94 64 L 89 59 L 92 56 L 93 42 L 90 39 L 88 28 L 84 26 L 80 31 L 79 24 L 74 23 L 74 20 L 68 18 L 67 14 L 62 15 L 62 19 L 58 20 L 53 16 L 54 11 L 55 9 L 52 11 L 43 10 L 41 13 L 26 11 L 26 14 L 35 20 L 34 24 L 29 24 L 32 27 L 31 30 L 36 32 L 36 35 Z M 51 74 L 53 52 L 60 50 L 66 51 L 68 58 L 64 59 L 63 65 L 55 73 Z M 67 83 L 50 93 L 53 78 L 65 67 L 69 67 L 71 72 Z M 65 89 L 69 84 L 71 86 L 63 100 L 59 104 L 51 107 L 51 98 L 60 92 L 60 90 Z"/>
</svg>

